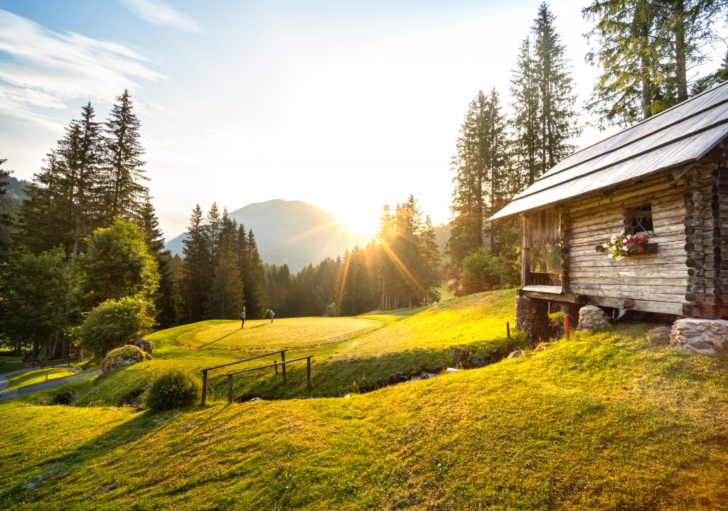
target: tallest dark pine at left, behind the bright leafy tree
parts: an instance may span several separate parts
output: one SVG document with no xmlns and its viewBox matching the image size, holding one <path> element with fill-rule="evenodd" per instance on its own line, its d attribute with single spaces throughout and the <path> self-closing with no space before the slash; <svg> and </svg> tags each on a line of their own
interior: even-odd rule
<svg viewBox="0 0 728 511">
<path fill-rule="evenodd" d="M 144 149 L 139 141 L 141 123 L 133 111 L 128 90 L 116 98 L 104 124 L 106 132 L 106 212 L 108 221 L 117 215 L 138 218 L 145 207 L 148 178 L 144 175 Z"/>
</svg>

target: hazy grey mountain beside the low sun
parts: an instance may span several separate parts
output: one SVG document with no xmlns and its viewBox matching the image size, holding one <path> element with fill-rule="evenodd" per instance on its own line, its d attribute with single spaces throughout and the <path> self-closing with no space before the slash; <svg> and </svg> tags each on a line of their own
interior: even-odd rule
<svg viewBox="0 0 728 511">
<path fill-rule="evenodd" d="M 245 229 L 253 229 L 264 263 L 288 264 L 292 272 L 368 241 L 352 235 L 331 213 L 297 200 L 256 202 L 228 214 Z M 182 255 L 183 239 L 181 234 L 165 247 Z"/>
</svg>

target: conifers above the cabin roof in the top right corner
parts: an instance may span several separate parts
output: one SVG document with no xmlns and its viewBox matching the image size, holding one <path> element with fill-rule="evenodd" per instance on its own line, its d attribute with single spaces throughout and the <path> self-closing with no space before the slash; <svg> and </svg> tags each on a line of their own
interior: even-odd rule
<svg viewBox="0 0 728 511">
<path fill-rule="evenodd" d="M 689 80 L 688 70 L 706 60 L 725 7 L 716 0 L 595 0 L 582 9 L 594 23 L 587 62 L 603 70 L 587 105 L 601 127 L 647 119 L 716 83 L 720 71 Z"/>
</svg>

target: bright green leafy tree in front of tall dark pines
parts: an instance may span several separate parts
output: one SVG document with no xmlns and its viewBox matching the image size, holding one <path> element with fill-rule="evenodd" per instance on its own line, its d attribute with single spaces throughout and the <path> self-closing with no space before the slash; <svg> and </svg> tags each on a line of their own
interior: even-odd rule
<svg viewBox="0 0 728 511">
<path fill-rule="evenodd" d="M 136 223 L 116 218 L 86 239 L 87 253 L 79 257 L 79 289 L 84 304 L 138 296 L 151 301 L 159 287 L 157 261 L 149 252 L 146 234 Z"/>
</svg>

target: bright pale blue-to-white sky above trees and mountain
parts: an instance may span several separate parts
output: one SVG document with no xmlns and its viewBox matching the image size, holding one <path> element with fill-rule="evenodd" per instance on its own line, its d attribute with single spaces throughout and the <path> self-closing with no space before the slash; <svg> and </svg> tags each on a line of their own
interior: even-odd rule
<svg viewBox="0 0 728 511">
<path fill-rule="evenodd" d="M 550 2 L 579 111 L 598 75 L 584 4 Z M 383 205 L 413 194 L 446 222 L 468 103 L 496 87 L 507 110 L 538 5 L 0 0 L 0 156 L 32 178 L 87 101 L 105 119 L 128 89 L 167 238 L 213 201 L 302 200 L 373 231 Z"/>
</svg>

